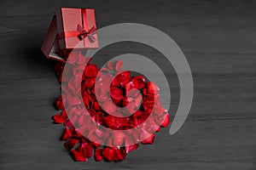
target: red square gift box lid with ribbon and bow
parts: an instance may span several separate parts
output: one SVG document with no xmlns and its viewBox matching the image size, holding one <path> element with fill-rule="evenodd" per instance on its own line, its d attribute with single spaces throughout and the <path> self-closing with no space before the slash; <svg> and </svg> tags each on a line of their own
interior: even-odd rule
<svg viewBox="0 0 256 170">
<path fill-rule="evenodd" d="M 99 47 L 93 8 L 59 8 L 56 22 L 61 49 Z"/>
</svg>

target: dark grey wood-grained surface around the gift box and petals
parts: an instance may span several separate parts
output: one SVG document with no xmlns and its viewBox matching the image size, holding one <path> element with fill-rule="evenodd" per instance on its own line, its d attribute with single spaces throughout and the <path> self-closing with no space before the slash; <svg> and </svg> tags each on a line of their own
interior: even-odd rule
<svg viewBox="0 0 256 170">
<path fill-rule="evenodd" d="M 194 103 L 178 133 L 169 136 L 163 129 L 153 145 L 143 145 L 125 161 L 72 160 L 59 141 L 61 126 L 50 119 L 60 84 L 53 63 L 40 52 L 51 16 L 61 6 L 96 8 L 98 27 L 138 22 L 177 42 L 195 82 Z M 256 169 L 255 9 L 253 0 L 2 0 L 0 169 Z M 171 79 L 175 111 L 178 82 L 170 65 L 134 44 L 106 49 L 98 60 L 122 50 L 154 54 Z"/>
</svg>

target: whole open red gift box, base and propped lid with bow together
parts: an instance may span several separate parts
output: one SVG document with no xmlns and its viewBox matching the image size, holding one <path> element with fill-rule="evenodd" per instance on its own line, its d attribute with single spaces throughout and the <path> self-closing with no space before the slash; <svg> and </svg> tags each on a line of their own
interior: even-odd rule
<svg viewBox="0 0 256 170">
<path fill-rule="evenodd" d="M 62 49 L 98 47 L 94 9 L 60 8 L 50 23 L 41 50 L 47 58 L 65 61 L 60 53 Z"/>
</svg>

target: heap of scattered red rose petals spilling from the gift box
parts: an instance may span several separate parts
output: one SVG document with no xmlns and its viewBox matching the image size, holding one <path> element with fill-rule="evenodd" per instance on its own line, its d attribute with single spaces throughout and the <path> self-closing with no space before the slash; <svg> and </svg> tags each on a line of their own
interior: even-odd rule
<svg viewBox="0 0 256 170">
<path fill-rule="evenodd" d="M 56 100 L 56 108 L 61 113 L 53 116 L 55 123 L 63 123 L 65 127 L 61 140 L 66 141 L 64 146 L 73 159 L 88 161 L 88 157 L 94 156 L 96 161 L 103 159 L 121 161 L 125 159 L 127 153 L 136 150 L 139 143 L 153 144 L 154 133 L 159 132 L 160 127 L 167 127 L 170 122 L 170 116 L 161 106 L 159 88 L 154 82 L 147 82 L 143 76 L 131 77 L 130 71 L 120 71 L 121 60 L 108 62 L 106 67 L 100 71 L 97 65 L 90 64 L 90 58 L 84 57 L 80 52 L 75 52 L 73 55 L 75 57 L 68 59 L 68 63 L 66 63 L 66 65 L 70 65 L 68 71 L 66 69 L 63 71 L 65 63 L 58 62 L 55 65 L 56 74 L 62 83 L 61 93 L 66 93 L 69 97 L 68 102 L 63 100 L 62 96 Z M 85 68 L 84 62 L 87 63 Z M 81 82 L 78 78 L 79 75 L 82 77 Z M 80 86 L 79 83 L 81 83 Z M 109 88 L 108 84 L 110 84 L 110 91 L 107 89 Z M 78 90 L 77 87 L 81 89 Z M 83 101 L 77 97 L 78 93 L 82 93 Z M 110 98 L 106 97 L 108 95 Z M 80 121 L 79 117 L 84 114 L 79 110 L 81 102 L 93 120 Z M 129 107 L 125 107 L 128 104 L 130 104 Z M 125 111 L 120 109 L 122 107 L 125 107 Z M 67 111 L 73 111 L 75 114 L 72 117 L 67 116 Z M 150 114 L 153 116 L 149 123 L 146 123 Z M 76 121 L 71 121 L 71 119 Z M 117 133 L 103 134 L 103 131 L 95 132 L 89 128 L 84 129 L 88 131 L 90 139 L 93 139 L 90 140 L 79 133 L 81 128 L 74 127 L 73 122 L 80 123 L 81 127 L 83 124 L 96 122 Z M 137 134 L 137 143 L 128 144 L 129 139 L 125 138 L 125 133 L 122 133 L 122 130 L 139 125 L 143 125 L 143 129 Z M 143 135 L 146 134 L 149 135 L 147 139 L 144 139 Z M 106 139 L 106 136 L 108 141 L 105 141 L 105 144 L 96 142 L 103 137 Z"/>
</svg>

